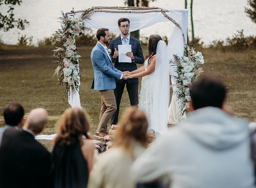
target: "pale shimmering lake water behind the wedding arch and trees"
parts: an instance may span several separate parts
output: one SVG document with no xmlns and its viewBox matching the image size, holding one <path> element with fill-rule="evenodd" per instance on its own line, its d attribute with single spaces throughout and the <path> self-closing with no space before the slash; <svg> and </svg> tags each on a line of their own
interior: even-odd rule
<svg viewBox="0 0 256 188">
<path fill-rule="evenodd" d="M 190 0 L 187 1 L 190 3 Z M 21 35 L 33 36 L 36 44 L 39 39 L 51 36 L 60 28 L 58 17 L 60 11 L 70 11 L 79 8 L 91 8 L 92 6 L 124 6 L 124 0 L 23 0 L 21 6 L 15 6 L 15 17 L 29 21 L 29 27 L 24 31 L 13 29 L 9 32 L 0 32 L 0 38 L 6 44 L 17 44 Z M 159 8 L 184 8 L 184 0 L 156 0 L 149 6 Z M 195 37 L 201 38 L 208 45 L 213 40 L 232 37 L 236 30 L 244 29 L 245 36 L 255 35 L 256 24 L 245 15 L 244 7 L 247 0 L 196 0 L 193 3 L 193 20 Z M 188 8 L 190 5 L 188 4 Z M 1 6 L 4 13 L 8 8 Z M 190 11 L 189 11 L 190 15 Z M 174 24 L 163 22 L 154 26 L 141 29 L 141 36 L 158 34 L 171 36 Z M 159 29 L 160 28 L 160 29 Z M 191 38 L 191 24 L 189 17 L 188 35 Z"/>
</svg>

